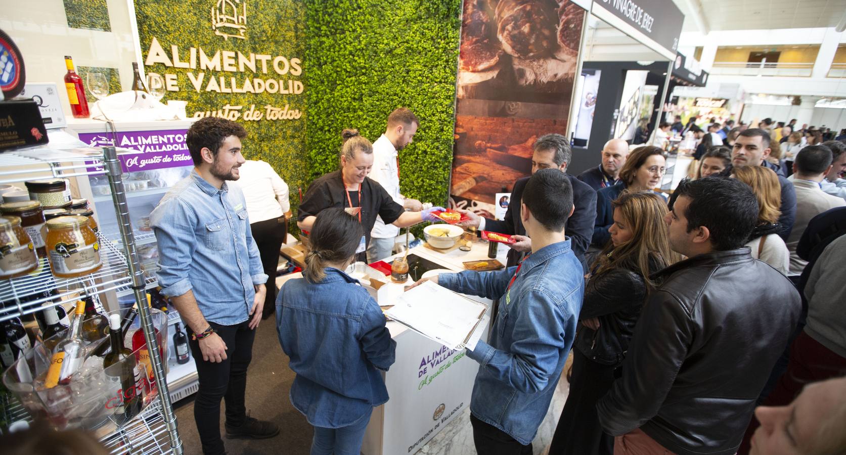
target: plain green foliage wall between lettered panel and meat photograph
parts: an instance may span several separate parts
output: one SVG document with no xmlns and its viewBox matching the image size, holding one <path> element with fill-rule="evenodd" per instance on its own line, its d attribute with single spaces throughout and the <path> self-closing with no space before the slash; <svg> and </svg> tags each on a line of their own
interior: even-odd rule
<svg viewBox="0 0 846 455">
<path fill-rule="evenodd" d="M 404 195 L 446 204 L 460 0 L 305 0 L 306 150 L 310 178 L 338 168 L 341 131 L 376 140 L 387 115 L 420 118 L 399 152 Z M 305 189 L 304 189 L 305 192 Z"/>
</svg>

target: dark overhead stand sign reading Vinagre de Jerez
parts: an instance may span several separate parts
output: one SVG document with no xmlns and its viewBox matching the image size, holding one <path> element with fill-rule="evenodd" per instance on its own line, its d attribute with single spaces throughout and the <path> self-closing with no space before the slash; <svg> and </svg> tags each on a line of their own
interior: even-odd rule
<svg viewBox="0 0 846 455">
<path fill-rule="evenodd" d="M 667 60 L 676 58 L 684 14 L 667 0 L 593 0 L 591 14 Z"/>
</svg>

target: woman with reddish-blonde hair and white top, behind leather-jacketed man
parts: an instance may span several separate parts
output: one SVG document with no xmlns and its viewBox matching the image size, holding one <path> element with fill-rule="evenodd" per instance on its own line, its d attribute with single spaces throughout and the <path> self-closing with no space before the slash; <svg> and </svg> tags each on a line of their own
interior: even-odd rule
<svg viewBox="0 0 846 455">
<path fill-rule="evenodd" d="M 732 177 L 749 185 L 758 200 L 758 224 L 745 246 L 752 249 L 752 257 L 760 259 L 787 275 L 790 268 L 790 252 L 784 240 L 778 236 L 781 226 L 778 217 L 782 205 L 782 190 L 776 173 L 767 167 L 735 167 Z"/>
</svg>

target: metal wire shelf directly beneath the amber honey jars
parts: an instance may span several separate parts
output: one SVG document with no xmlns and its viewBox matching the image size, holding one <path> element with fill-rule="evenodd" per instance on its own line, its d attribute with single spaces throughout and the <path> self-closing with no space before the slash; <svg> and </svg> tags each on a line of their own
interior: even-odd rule
<svg viewBox="0 0 846 455">
<path fill-rule="evenodd" d="M 47 259 L 41 258 L 37 273 L 0 281 L 0 302 L 4 305 L 0 310 L 0 322 L 29 315 L 44 310 L 44 306 L 62 304 L 70 299 L 82 299 L 112 290 L 117 293 L 131 291 L 132 277 L 129 276 L 124 253 L 103 235 L 98 235 L 98 241 L 103 266 L 94 273 L 67 279 L 53 277 Z M 151 285 L 156 282 L 156 278 L 146 276 L 145 281 Z M 45 290 L 51 289 L 55 289 L 55 293 L 45 295 Z"/>
</svg>

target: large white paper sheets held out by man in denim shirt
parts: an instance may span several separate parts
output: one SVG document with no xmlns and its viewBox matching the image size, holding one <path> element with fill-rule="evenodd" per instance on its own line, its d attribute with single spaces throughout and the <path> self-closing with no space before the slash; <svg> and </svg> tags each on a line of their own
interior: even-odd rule
<svg viewBox="0 0 846 455">
<path fill-rule="evenodd" d="M 429 281 L 398 296 L 385 315 L 448 348 L 473 349 L 484 330 L 488 305 Z"/>
</svg>

